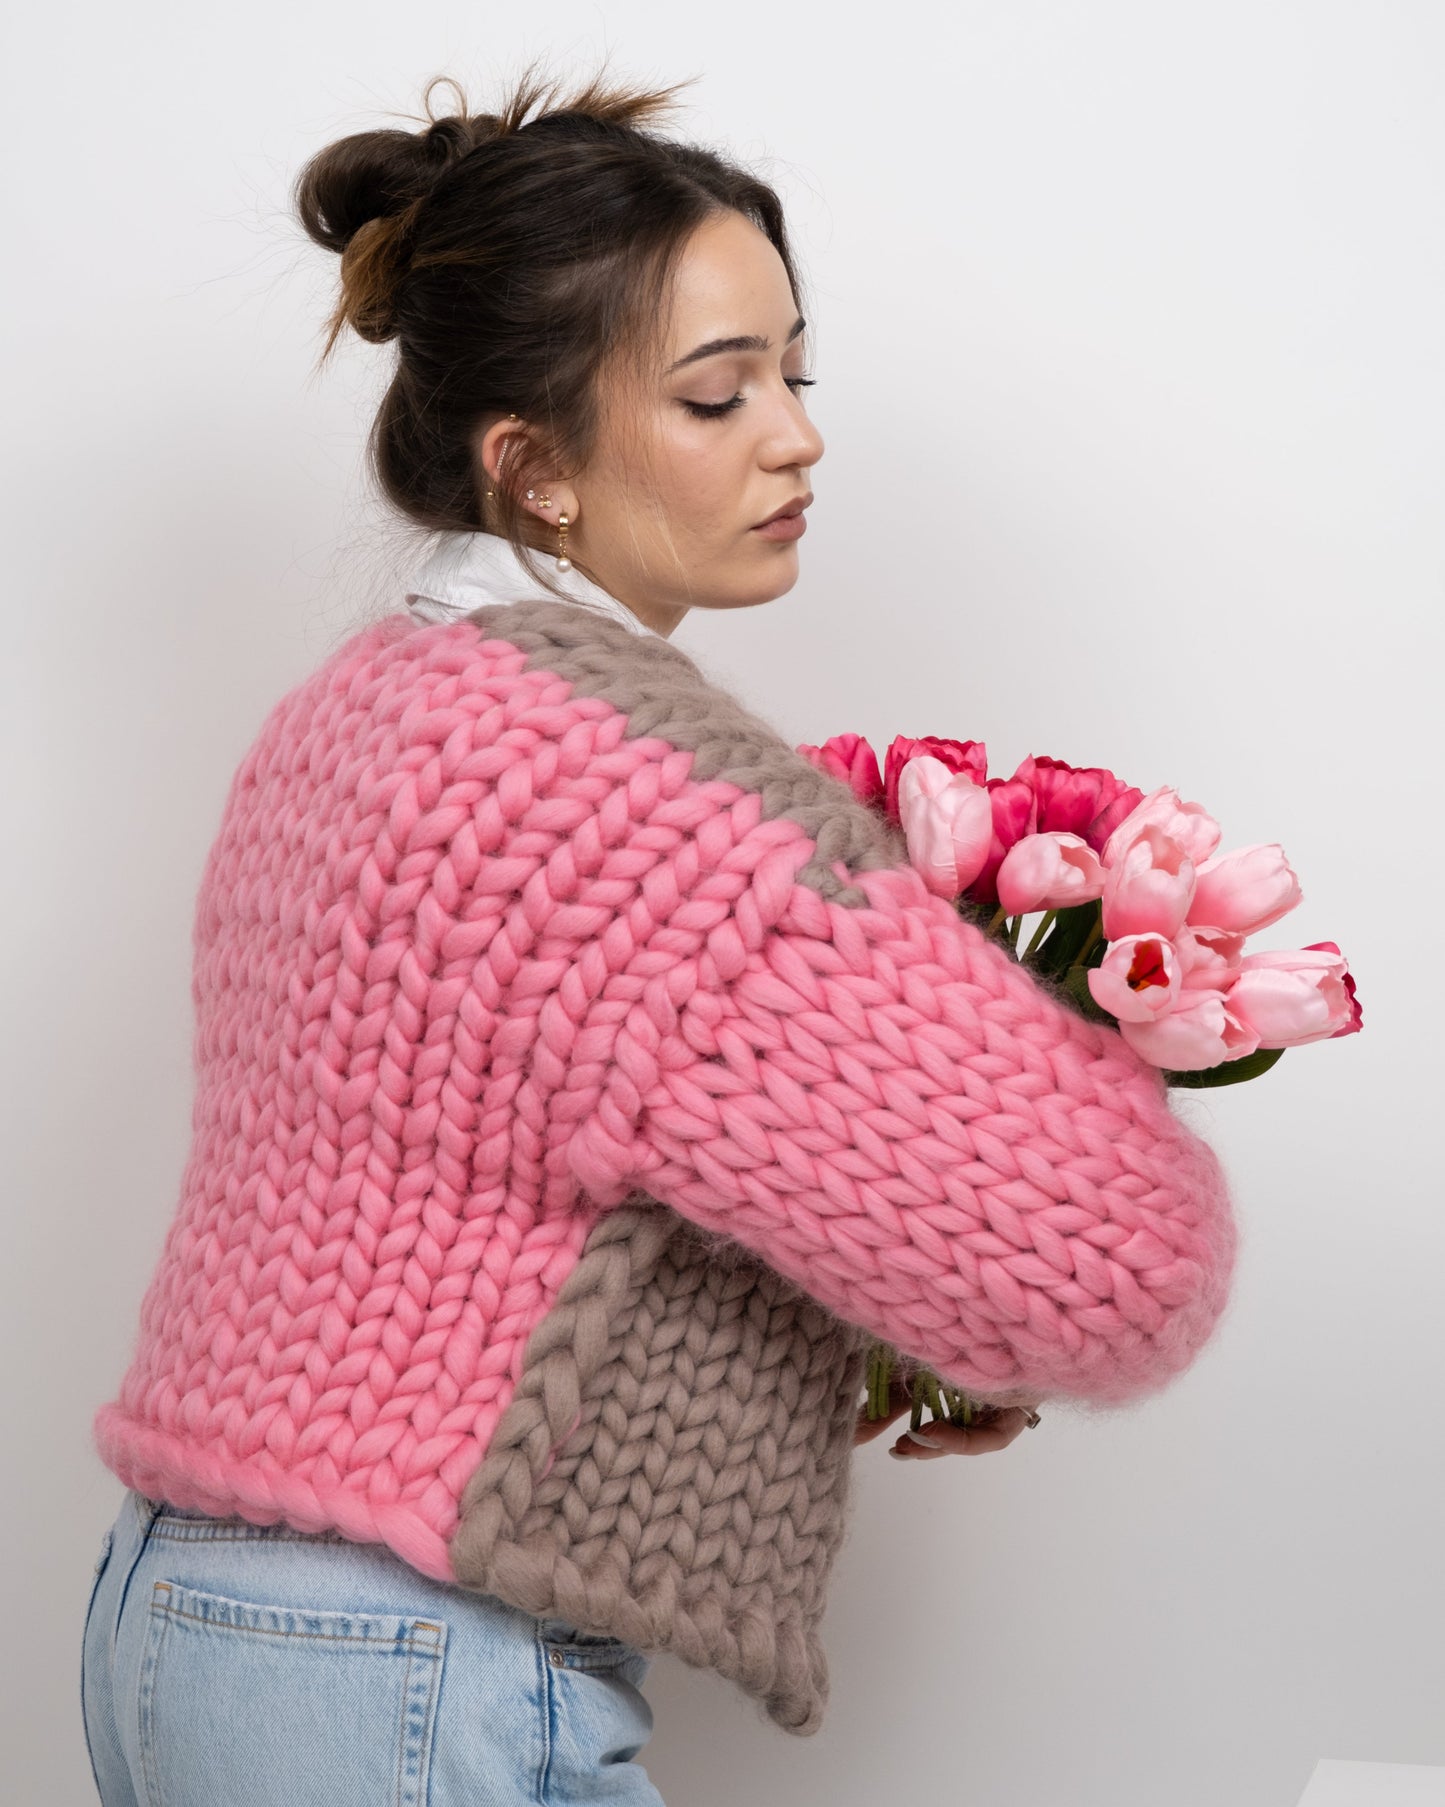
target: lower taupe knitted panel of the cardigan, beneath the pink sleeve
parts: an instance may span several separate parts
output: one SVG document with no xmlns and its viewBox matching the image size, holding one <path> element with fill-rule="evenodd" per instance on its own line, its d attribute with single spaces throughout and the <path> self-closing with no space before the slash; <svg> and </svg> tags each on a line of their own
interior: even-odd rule
<svg viewBox="0 0 1445 1807">
<path fill-rule="evenodd" d="M 632 1194 L 527 1339 L 462 1496 L 457 1579 L 713 1668 L 786 1731 L 818 1731 L 867 1344 L 750 1250 Z"/>
</svg>

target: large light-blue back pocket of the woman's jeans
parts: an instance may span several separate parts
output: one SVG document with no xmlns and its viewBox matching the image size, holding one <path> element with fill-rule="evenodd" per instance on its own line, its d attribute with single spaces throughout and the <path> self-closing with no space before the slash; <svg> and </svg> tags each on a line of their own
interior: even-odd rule
<svg viewBox="0 0 1445 1807">
<path fill-rule="evenodd" d="M 152 1807 L 423 1807 L 444 1653 L 439 1619 L 155 1581 L 139 1686 Z"/>
</svg>

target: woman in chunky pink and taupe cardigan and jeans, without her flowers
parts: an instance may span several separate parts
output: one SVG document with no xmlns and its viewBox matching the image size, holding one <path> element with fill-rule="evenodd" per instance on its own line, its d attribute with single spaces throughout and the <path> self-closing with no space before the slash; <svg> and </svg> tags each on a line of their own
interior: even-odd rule
<svg viewBox="0 0 1445 1807">
<path fill-rule="evenodd" d="M 96 1422 L 107 1807 L 656 1802 L 656 1650 L 816 1731 L 869 1343 L 992 1402 L 927 1458 L 1158 1388 L 1225 1305 L 1160 1075 L 668 643 L 797 578 L 798 282 L 667 94 L 555 101 L 298 184 L 441 538 L 202 878 L 191 1160 Z"/>
</svg>

